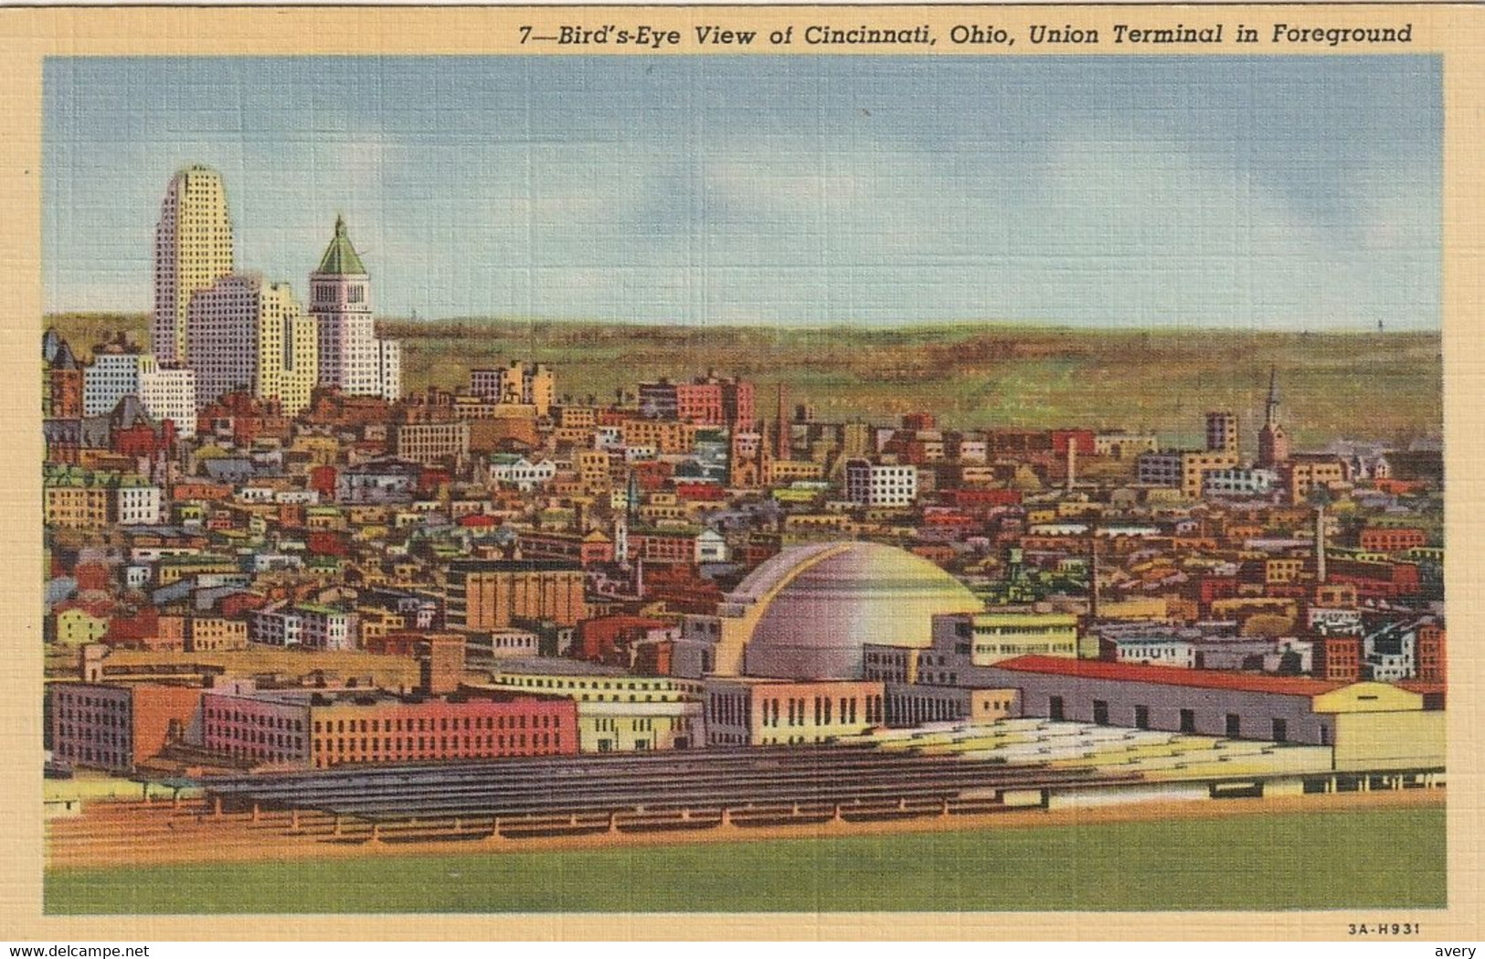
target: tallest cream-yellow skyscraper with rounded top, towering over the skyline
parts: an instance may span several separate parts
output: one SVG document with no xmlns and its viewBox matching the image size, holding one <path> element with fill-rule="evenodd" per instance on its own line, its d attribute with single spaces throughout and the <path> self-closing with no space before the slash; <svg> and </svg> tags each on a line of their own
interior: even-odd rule
<svg viewBox="0 0 1485 959">
<path fill-rule="evenodd" d="M 192 294 L 232 273 L 232 217 L 221 174 L 187 166 L 175 174 L 154 227 L 154 316 L 150 334 L 162 367 L 186 364 Z"/>
</svg>

